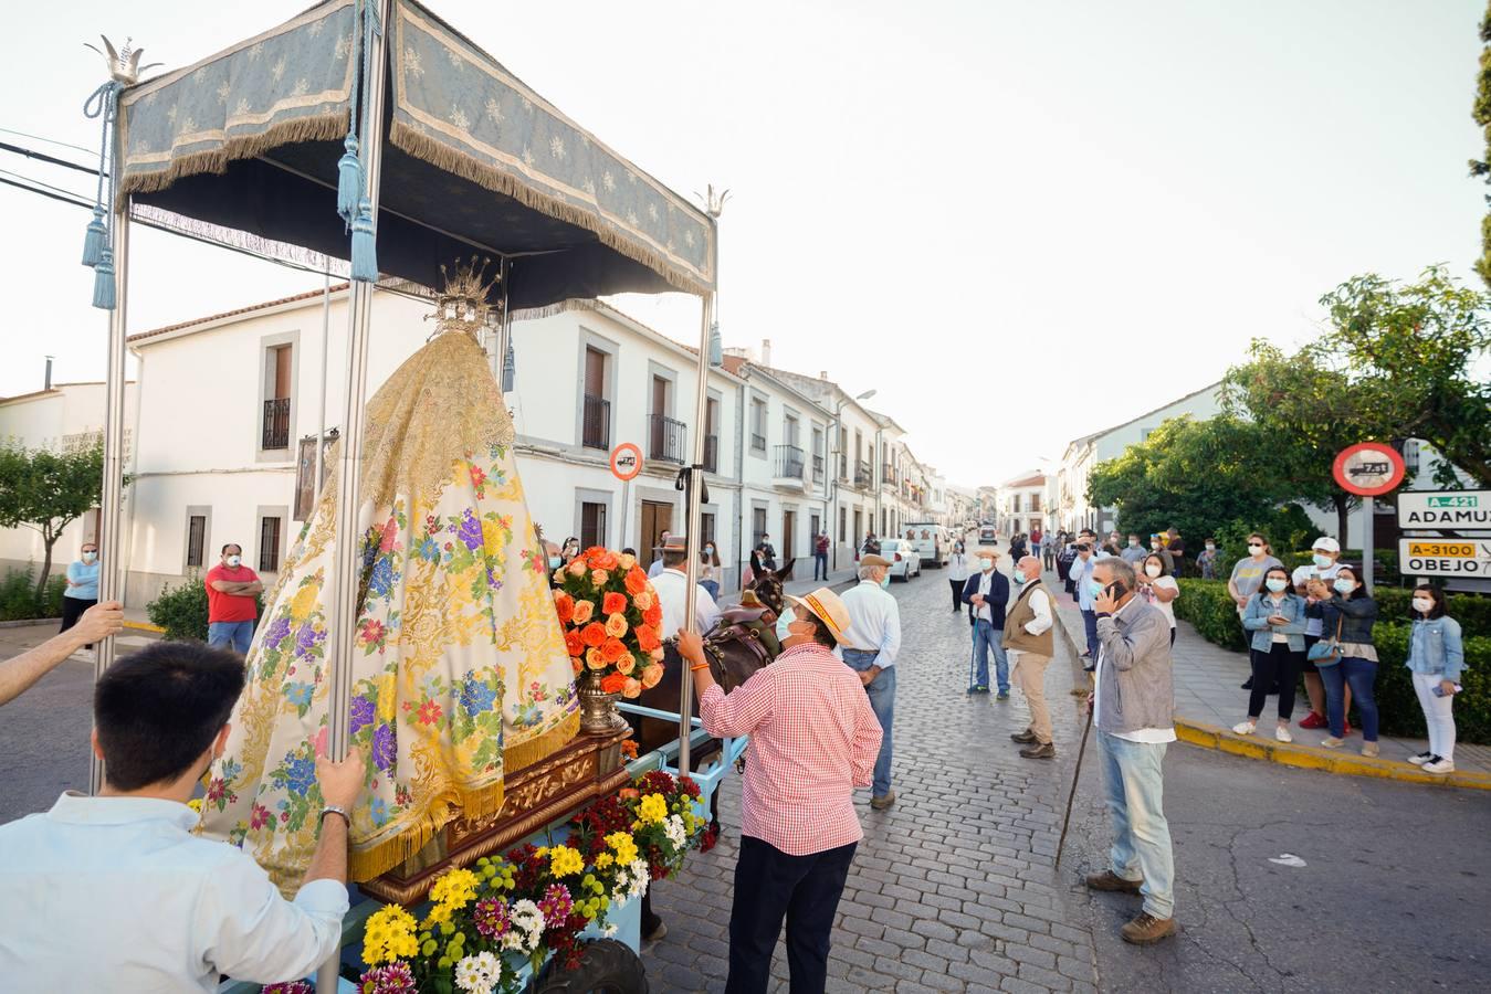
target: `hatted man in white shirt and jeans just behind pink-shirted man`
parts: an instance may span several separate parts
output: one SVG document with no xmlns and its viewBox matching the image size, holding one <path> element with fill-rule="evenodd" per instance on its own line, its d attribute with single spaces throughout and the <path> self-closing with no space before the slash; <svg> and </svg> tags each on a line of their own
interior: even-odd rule
<svg viewBox="0 0 1491 994">
<path fill-rule="evenodd" d="M 875 782 L 871 785 L 869 806 L 884 811 L 896 803 L 890 790 L 890 727 L 896 717 L 896 654 L 901 651 L 901 608 L 890 596 L 890 560 L 874 553 L 859 559 L 859 586 L 844 592 L 848 611 L 848 633 L 839 651 L 848 668 L 859 674 L 869 696 L 869 706 L 880 718 L 884 736 L 875 760 Z"/>
</svg>

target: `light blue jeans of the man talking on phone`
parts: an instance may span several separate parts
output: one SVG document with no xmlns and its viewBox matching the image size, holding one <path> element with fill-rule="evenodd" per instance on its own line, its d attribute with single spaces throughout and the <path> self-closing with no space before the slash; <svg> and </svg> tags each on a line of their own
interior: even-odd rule
<svg viewBox="0 0 1491 994">
<path fill-rule="evenodd" d="M 1144 909 L 1156 918 L 1175 914 L 1175 851 L 1164 820 L 1164 744 L 1130 742 L 1097 732 L 1108 788 L 1114 845 L 1112 872 L 1126 881 L 1142 879 Z"/>
</svg>

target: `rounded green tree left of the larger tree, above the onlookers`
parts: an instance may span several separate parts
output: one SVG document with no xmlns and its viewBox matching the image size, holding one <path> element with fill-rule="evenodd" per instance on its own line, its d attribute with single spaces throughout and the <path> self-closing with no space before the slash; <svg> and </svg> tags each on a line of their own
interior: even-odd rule
<svg viewBox="0 0 1491 994">
<path fill-rule="evenodd" d="M 1220 532 L 1260 529 L 1279 548 L 1299 541 L 1276 534 L 1281 507 L 1296 498 L 1296 447 L 1267 428 L 1227 414 L 1208 420 L 1175 417 L 1115 459 L 1093 468 L 1087 501 L 1118 508 L 1123 531 L 1154 534 L 1178 528 L 1193 541 Z M 1291 531 L 1294 526 L 1290 526 Z"/>
</svg>

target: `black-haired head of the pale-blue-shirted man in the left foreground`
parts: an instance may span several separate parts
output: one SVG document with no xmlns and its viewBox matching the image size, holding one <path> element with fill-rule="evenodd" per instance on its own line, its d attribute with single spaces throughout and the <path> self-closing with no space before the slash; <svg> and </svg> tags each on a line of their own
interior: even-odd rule
<svg viewBox="0 0 1491 994">
<path fill-rule="evenodd" d="M 197 642 L 157 642 L 94 687 L 94 750 L 112 791 L 200 776 L 243 693 L 243 660 Z"/>
</svg>

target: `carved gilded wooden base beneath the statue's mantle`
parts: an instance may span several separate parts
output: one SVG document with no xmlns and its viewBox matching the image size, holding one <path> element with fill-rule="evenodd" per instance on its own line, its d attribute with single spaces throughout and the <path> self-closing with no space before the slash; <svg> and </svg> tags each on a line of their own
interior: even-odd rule
<svg viewBox="0 0 1491 994">
<path fill-rule="evenodd" d="M 631 729 L 625 724 L 608 735 L 577 735 L 549 759 L 513 773 L 504 784 L 498 814 L 476 821 L 456 817 L 403 866 L 358 888 L 379 900 L 420 903 L 444 870 L 504 852 L 538 829 L 625 787 L 622 742 L 628 738 Z"/>
</svg>

